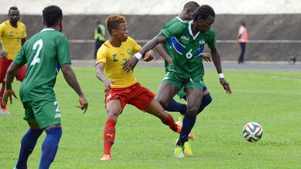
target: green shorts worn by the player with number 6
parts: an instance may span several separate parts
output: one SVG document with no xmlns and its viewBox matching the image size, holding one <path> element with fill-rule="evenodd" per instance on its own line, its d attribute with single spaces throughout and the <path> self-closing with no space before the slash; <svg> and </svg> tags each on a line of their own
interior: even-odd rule
<svg viewBox="0 0 301 169">
<path fill-rule="evenodd" d="M 199 88 L 203 91 L 203 87 L 205 86 L 203 83 L 203 78 L 201 77 L 184 79 L 174 72 L 167 72 L 162 80 L 162 83 L 170 83 L 180 90 L 185 90 L 185 88 Z"/>
</svg>

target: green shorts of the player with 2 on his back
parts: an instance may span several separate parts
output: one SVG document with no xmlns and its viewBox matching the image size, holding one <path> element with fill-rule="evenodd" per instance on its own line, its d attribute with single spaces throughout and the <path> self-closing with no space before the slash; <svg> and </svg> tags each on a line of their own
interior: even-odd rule
<svg viewBox="0 0 301 169">
<path fill-rule="evenodd" d="M 40 129 L 53 124 L 61 124 L 61 112 L 56 100 L 27 101 L 23 103 L 25 109 L 24 120 L 38 123 Z"/>
</svg>

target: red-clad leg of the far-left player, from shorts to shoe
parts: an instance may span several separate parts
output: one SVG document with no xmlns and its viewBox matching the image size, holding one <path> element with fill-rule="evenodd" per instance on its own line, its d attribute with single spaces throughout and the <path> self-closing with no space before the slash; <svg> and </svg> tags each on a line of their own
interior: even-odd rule
<svg viewBox="0 0 301 169">
<path fill-rule="evenodd" d="M 5 89 L 5 77 L 6 77 L 6 71 L 8 70 L 8 67 L 12 63 L 12 60 L 4 59 L 0 57 L 0 83 L 2 83 L 1 90 L 0 90 L 0 102 L 2 100 L 3 92 Z M 10 114 L 9 111 L 6 109 L 6 106 L 1 104 L 1 111 L 0 114 Z"/>
</svg>

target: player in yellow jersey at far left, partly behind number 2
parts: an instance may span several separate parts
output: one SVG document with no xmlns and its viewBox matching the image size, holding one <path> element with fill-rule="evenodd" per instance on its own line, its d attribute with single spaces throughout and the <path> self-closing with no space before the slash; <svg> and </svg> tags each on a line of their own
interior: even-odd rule
<svg viewBox="0 0 301 169">
<path fill-rule="evenodd" d="M 3 96 L 5 88 L 4 79 L 8 66 L 13 62 L 13 59 L 17 56 L 17 53 L 26 41 L 26 27 L 22 22 L 19 22 L 20 12 L 17 7 L 10 7 L 8 17 L 10 20 L 0 24 L 0 39 L 2 45 L 2 48 L 0 47 L 0 83 L 2 83 L 0 98 Z M 26 65 L 18 70 L 15 77 L 18 81 L 23 81 L 25 75 Z M 6 110 L 6 106 L 2 104 L 0 114 L 9 114 Z"/>
</svg>

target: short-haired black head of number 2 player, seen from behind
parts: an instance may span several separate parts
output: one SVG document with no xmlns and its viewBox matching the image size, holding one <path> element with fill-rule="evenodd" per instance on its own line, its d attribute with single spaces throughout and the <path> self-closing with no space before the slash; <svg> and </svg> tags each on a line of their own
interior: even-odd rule
<svg viewBox="0 0 301 169">
<path fill-rule="evenodd" d="M 43 19 L 46 26 L 55 26 L 63 19 L 63 11 L 59 6 L 47 6 L 43 10 Z"/>
</svg>

